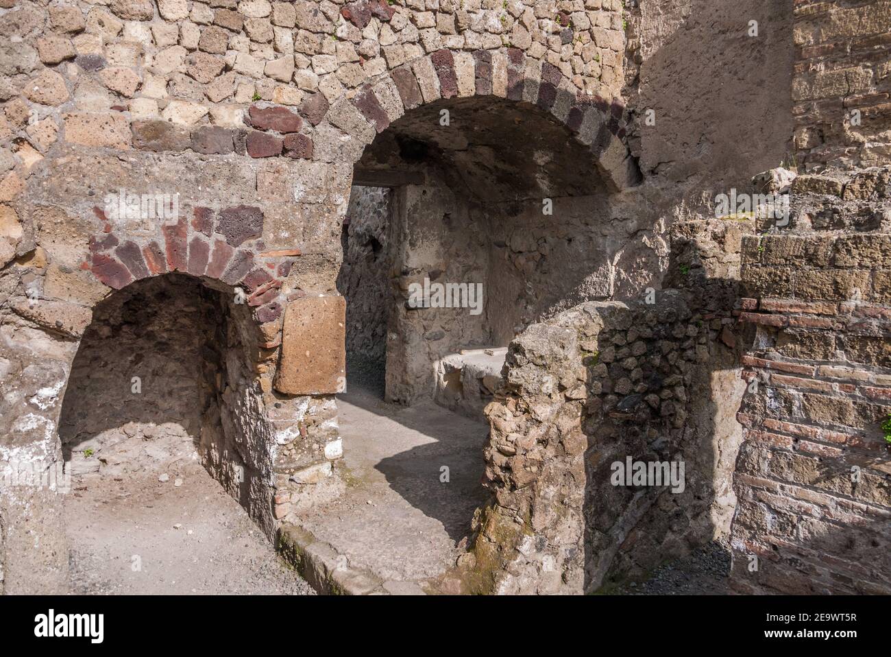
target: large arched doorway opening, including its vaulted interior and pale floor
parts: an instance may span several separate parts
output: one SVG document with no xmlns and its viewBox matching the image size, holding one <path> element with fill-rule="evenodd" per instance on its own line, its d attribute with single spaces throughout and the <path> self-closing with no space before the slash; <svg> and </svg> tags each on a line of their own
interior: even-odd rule
<svg viewBox="0 0 891 657">
<path fill-rule="evenodd" d="M 516 333 L 561 301 L 609 296 L 586 279 L 607 261 L 589 228 L 612 190 L 590 144 L 535 103 L 440 99 L 378 131 L 342 237 L 347 491 L 300 522 L 384 590 L 466 590 L 448 571 L 490 494 L 483 409 Z M 349 366 L 369 358 L 371 391 Z"/>
</svg>

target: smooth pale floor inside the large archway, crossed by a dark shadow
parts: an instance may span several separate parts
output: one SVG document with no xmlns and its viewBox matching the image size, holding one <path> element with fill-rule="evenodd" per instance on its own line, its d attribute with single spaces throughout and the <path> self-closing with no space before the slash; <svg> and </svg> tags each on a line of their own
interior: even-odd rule
<svg viewBox="0 0 891 657">
<path fill-rule="evenodd" d="M 385 588 L 425 587 L 454 566 L 486 499 L 486 425 L 431 403 L 388 404 L 356 384 L 338 411 L 347 493 L 303 527 Z"/>
</svg>

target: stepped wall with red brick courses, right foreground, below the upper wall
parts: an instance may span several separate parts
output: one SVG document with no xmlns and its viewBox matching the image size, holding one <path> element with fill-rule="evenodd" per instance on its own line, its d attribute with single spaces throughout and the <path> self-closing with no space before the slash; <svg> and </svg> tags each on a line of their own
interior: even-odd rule
<svg viewBox="0 0 891 657">
<path fill-rule="evenodd" d="M 742 592 L 887 593 L 889 171 L 799 176 L 743 240 L 753 326 L 735 488 Z"/>
</svg>

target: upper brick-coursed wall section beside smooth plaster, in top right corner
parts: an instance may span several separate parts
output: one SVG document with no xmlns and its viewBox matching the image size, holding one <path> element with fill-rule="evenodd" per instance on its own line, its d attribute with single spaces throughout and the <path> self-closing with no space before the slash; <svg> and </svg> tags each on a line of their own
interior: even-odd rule
<svg viewBox="0 0 891 657">
<path fill-rule="evenodd" d="M 803 170 L 887 162 L 891 4 L 795 3 L 795 149 Z"/>
</svg>

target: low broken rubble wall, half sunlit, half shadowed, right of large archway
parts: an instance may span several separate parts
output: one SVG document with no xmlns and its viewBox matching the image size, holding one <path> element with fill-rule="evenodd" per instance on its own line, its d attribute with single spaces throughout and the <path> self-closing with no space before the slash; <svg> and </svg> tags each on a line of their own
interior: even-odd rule
<svg viewBox="0 0 891 657">
<path fill-rule="evenodd" d="M 591 592 L 726 531 L 711 512 L 732 506 L 715 491 L 733 438 L 718 445 L 713 427 L 691 424 L 715 403 L 708 375 L 732 319 L 691 310 L 679 291 L 650 301 L 584 303 L 511 342 L 486 408 L 495 499 L 475 519 L 471 588 Z M 615 485 L 628 458 L 683 462 L 683 489 Z"/>
</svg>

